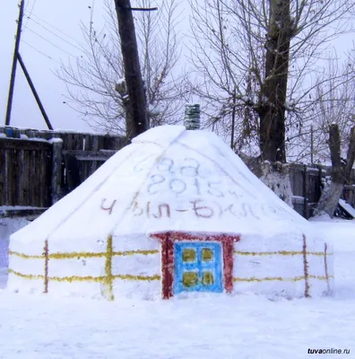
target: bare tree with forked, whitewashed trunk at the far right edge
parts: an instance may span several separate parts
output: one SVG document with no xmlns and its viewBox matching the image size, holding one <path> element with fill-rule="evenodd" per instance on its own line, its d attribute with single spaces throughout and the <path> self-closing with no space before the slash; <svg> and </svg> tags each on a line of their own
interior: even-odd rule
<svg viewBox="0 0 355 359">
<path fill-rule="evenodd" d="M 351 180 L 355 160 L 354 59 L 354 51 L 351 50 L 342 68 L 339 68 L 338 62 L 330 61 L 331 81 L 324 82 L 323 76 L 320 76 L 316 82 L 312 157 L 322 163 L 330 159 L 332 164 L 331 181 L 325 181 L 316 215 L 325 213 L 333 217 L 344 185 L 350 184 Z M 303 137 L 299 136 L 305 141 L 299 147 L 306 148 L 307 136 Z"/>
</svg>

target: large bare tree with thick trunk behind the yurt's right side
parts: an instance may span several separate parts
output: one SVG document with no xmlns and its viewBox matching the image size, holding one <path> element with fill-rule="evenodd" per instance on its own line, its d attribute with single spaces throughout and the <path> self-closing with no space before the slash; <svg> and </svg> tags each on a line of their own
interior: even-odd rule
<svg viewBox="0 0 355 359">
<path fill-rule="evenodd" d="M 207 125 L 231 136 L 226 124 L 235 114 L 239 144 L 247 142 L 263 160 L 286 162 L 293 135 L 317 101 L 316 75 L 325 72 L 330 43 L 351 31 L 355 3 L 204 0 L 191 6 L 198 82 L 190 85 L 208 104 Z"/>
</svg>

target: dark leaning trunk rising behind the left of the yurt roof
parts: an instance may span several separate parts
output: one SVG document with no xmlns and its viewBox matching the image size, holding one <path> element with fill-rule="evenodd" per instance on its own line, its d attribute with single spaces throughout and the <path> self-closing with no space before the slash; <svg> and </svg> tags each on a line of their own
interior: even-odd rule
<svg viewBox="0 0 355 359">
<path fill-rule="evenodd" d="M 127 137 L 132 139 L 146 131 L 149 124 L 131 3 L 130 0 L 115 0 L 115 4 L 129 99 L 129 118 L 132 119 L 132 126 L 126 130 Z"/>
</svg>

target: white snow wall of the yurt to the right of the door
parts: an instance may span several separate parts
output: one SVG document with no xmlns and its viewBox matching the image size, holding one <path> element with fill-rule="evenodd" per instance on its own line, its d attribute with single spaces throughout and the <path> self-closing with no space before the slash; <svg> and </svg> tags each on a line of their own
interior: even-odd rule
<svg viewBox="0 0 355 359">
<path fill-rule="evenodd" d="M 286 241 L 285 241 L 286 240 Z M 241 236 L 234 244 L 234 292 L 291 298 L 333 293 L 333 247 L 299 234 Z"/>
</svg>

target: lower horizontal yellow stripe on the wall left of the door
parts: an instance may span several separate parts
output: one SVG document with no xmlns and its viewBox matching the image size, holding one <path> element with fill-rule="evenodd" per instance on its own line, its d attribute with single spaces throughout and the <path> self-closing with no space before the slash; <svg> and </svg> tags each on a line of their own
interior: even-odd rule
<svg viewBox="0 0 355 359">
<path fill-rule="evenodd" d="M 22 273 L 16 272 L 13 269 L 8 270 L 9 273 L 12 273 L 15 276 L 20 276 L 24 279 L 44 279 L 44 276 L 39 275 L 23 275 Z M 132 275 L 116 275 L 110 276 L 111 279 L 127 279 L 132 281 L 153 281 L 160 280 L 160 276 L 132 276 Z M 54 282 L 105 282 L 107 276 L 49 276 L 49 281 Z"/>
</svg>

